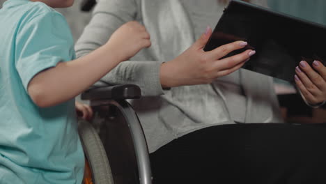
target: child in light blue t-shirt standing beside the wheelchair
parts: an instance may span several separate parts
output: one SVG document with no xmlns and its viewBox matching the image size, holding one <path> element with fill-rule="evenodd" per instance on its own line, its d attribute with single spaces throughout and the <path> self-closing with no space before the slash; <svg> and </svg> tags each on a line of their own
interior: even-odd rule
<svg viewBox="0 0 326 184">
<path fill-rule="evenodd" d="M 81 183 L 84 152 L 73 99 L 150 46 L 146 29 L 128 22 L 75 59 L 68 24 L 52 9 L 73 0 L 40 1 L 8 0 L 0 9 L 1 184 Z"/>
</svg>

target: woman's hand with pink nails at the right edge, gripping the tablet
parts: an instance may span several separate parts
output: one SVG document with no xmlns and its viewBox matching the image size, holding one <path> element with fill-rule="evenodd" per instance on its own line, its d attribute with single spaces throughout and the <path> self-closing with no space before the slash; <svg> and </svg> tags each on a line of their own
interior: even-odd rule
<svg viewBox="0 0 326 184">
<path fill-rule="evenodd" d="M 313 61 L 312 67 L 301 61 L 295 68 L 295 83 L 310 105 L 326 100 L 326 68 L 320 61 Z"/>
</svg>

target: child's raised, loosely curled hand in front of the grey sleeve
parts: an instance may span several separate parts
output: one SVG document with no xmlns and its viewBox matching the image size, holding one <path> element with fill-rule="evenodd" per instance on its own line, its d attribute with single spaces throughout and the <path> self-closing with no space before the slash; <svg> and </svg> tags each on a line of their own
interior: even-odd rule
<svg viewBox="0 0 326 184">
<path fill-rule="evenodd" d="M 150 47 L 150 35 L 138 22 L 127 22 L 111 35 L 107 45 L 114 50 L 112 53 L 118 54 L 119 58 L 125 61 L 144 47 Z"/>
</svg>

